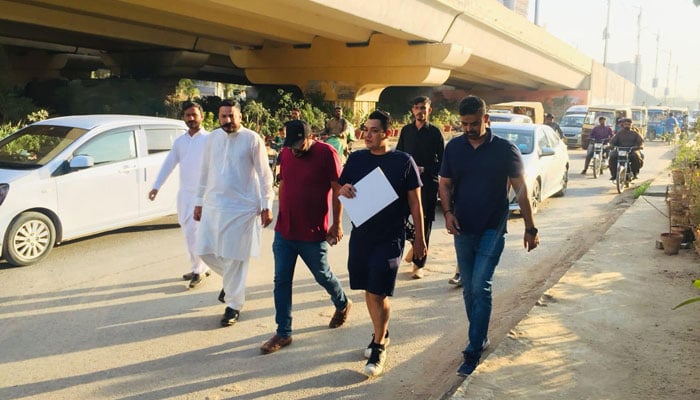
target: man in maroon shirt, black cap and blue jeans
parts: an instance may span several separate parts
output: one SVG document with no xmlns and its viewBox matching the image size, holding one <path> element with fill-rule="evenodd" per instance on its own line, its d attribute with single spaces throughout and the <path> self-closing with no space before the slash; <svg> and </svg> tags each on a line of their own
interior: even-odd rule
<svg viewBox="0 0 700 400">
<path fill-rule="evenodd" d="M 331 196 L 340 189 L 338 153 L 333 146 L 314 141 L 304 121 L 288 121 L 285 130 L 280 153 L 279 212 L 272 243 L 277 332 L 260 347 L 263 354 L 292 343 L 292 280 L 297 257 L 331 296 L 335 313 L 330 328 L 343 325 L 352 306 L 328 265 L 329 245 L 343 238 L 342 206 L 337 196 Z M 331 204 L 333 223 L 329 228 Z"/>
</svg>

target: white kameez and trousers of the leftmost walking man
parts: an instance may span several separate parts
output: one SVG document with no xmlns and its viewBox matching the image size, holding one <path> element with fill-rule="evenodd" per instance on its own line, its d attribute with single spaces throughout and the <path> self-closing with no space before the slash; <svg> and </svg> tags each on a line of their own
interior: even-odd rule
<svg viewBox="0 0 700 400">
<path fill-rule="evenodd" d="M 199 222 L 192 218 L 207 136 L 209 136 L 209 132 L 200 128 L 199 131 L 192 136 L 185 131 L 184 135 L 175 139 L 173 147 L 170 149 L 170 153 L 168 153 L 167 157 L 165 157 L 163 166 L 160 167 L 158 177 L 153 183 L 153 189 L 160 190 L 161 186 L 163 186 L 168 179 L 168 176 L 170 176 L 170 173 L 175 169 L 175 166 L 180 164 L 180 189 L 177 193 L 177 221 L 180 223 L 182 232 L 185 234 L 187 255 L 190 258 L 192 272 L 195 274 L 203 274 L 209 269 L 204 261 L 202 261 L 202 258 L 194 252 Z"/>
</svg>

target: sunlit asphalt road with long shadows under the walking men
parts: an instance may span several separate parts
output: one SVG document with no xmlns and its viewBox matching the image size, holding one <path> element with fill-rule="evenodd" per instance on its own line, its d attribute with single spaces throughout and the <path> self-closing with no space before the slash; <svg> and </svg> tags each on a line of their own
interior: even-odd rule
<svg viewBox="0 0 700 400">
<path fill-rule="evenodd" d="M 660 172 L 670 147 L 647 144 L 639 182 Z M 535 216 L 541 246 L 522 249 L 522 221 L 512 218 L 496 271 L 493 346 L 595 243 L 632 201 L 608 175 L 581 176 L 583 150 L 571 150 L 570 184 Z M 633 190 L 633 189 L 632 189 Z M 350 227 L 346 218 L 346 234 Z M 54 249 L 42 263 L 0 266 L 0 398 L 51 399 L 440 399 L 455 376 L 466 340 L 451 237 L 438 217 L 426 277 L 405 264 L 391 299 L 391 346 L 385 375 L 367 379 L 362 351 L 371 324 L 362 292 L 347 324 L 327 328 L 333 307 L 304 265 L 294 287 L 294 342 L 271 355 L 259 346 L 275 330 L 272 229 L 254 259 L 241 320 L 221 328 L 221 278 L 188 290 L 184 239 L 174 217 L 92 236 Z M 348 288 L 347 240 L 330 262 Z M 349 290 L 349 289 L 347 289 Z"/>
</svg>

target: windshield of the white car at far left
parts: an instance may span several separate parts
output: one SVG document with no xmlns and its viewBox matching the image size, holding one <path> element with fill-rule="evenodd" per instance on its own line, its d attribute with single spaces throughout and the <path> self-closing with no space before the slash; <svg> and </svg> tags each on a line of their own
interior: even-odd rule
<svg viewBox="0 0 700 400">
<path fill-rule="evenodd" d="M 39 168 L 85 132 L 70 126 L 30 125 L 0 141 L 0 167 Z"/>
</svg>

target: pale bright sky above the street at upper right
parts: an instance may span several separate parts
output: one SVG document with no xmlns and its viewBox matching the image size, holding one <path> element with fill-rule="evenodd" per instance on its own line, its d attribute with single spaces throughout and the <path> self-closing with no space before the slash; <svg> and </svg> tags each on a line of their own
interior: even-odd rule
<svg viewBox="0 0 700 400">
<path fill-rule="evenodd" d="M 700 7 L 693 0 L 539 0 L 539 25 L 603 64 L 608 1 L 607 62 L 634 62 L 639 33 L 639 86 L 656 97 L 668 86 L 669 97 L 700 100 Z M 535 2 L 530 0 L 528 16 L 533 22 Z"/>
</svg>

